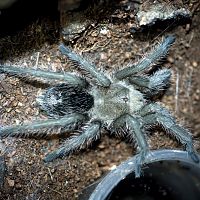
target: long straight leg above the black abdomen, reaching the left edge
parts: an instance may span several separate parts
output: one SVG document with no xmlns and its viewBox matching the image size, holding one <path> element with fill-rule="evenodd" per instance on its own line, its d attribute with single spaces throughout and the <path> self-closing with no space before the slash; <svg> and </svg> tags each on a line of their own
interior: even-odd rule
<svg viewBox="0 0 200 200">
<path fill-rule="evenodd" d="M 40 69 L 21 68 L 15 66 L 0 65 L 0 73 L 6 73 L 18 77 L 37 77 L 46 80 L 61 80 L 65 83 L 78 85 L 81 88 L 88 86 L 85 79 L 71 73 L 49 72 Z"/>
</svg>

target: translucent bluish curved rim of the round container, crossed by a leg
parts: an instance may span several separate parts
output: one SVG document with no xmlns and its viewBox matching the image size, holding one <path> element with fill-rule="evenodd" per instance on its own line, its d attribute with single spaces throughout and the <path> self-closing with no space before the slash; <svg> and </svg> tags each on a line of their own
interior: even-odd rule
<svg viewBox="0 0 200 200">
<path fill-rule="evenodd" d="M 109 172 L 97 185 L 89 200 L 105 200 L 118 183 L 128 174 L 133 173 L 135 169 L 135 156 L 120 164 L 116 169 Z M 200 158 L 200 156 L 199 156 Z M 180 150 L 155 150 L 151 151 L 145 164 L 164 161 L 176 160 L 200 167 L 200 163 L 195 163 L 185 151 Z"/>
</svg>

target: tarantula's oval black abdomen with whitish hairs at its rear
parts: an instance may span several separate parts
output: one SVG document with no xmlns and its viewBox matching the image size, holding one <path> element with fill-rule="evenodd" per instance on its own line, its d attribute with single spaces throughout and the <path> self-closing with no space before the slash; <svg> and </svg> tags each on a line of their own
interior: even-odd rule
<svg viewBox="0 0 200 200">
<path fill-rule="evenodd" d="M 70 113 L 84 114 L 94 105 L 92 95 L 68 84 L 59 84 L 49 88 L 37 98 L 37 102 L 42 110 L 53 117 Z"/>
</svg>

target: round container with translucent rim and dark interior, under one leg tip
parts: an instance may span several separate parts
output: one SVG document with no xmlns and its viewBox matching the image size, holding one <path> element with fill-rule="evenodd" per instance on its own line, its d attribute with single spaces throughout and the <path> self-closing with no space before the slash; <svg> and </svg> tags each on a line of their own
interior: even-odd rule
<svg viewBox="0 0 200 200">
<path fill-rule="evenodd" d="M 200 164 L 187 152 L 148 154 L 143 175 L 135 178 L 135 156 L 83 191 L 81 200 L 200 200 Z"/>
</svg>

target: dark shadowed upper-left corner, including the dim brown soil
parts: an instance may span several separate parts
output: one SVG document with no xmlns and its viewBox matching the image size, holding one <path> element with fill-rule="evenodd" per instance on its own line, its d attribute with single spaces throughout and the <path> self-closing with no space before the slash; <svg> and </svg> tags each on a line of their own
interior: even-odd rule
<svg viewBox="0 0 200 200">
<path fill-rule="evenodd" d="M 0 62 L 60 39 L 57 0 L 18 0 L 0 10 Z"/>
</svg>

